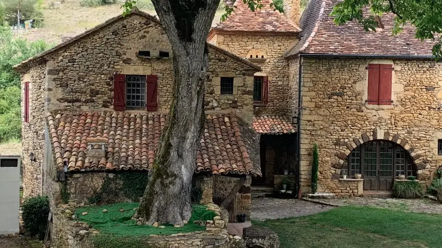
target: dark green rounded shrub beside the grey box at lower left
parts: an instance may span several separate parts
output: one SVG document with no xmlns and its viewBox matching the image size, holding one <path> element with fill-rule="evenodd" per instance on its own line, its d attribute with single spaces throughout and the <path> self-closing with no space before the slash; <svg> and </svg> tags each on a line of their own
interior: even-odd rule
<svg viewBox="0 0 442 248">
<path fill-rule="evenodd" d="M 49 199 L 46 196 L 27 198 L 21 206 L 24 228 L 31 236 L 44 238 L 49 214 Z"/>
</svg>

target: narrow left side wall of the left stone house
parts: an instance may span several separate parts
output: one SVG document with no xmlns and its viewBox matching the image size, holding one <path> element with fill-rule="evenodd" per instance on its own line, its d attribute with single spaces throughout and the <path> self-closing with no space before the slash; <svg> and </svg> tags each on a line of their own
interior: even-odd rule
<svg viewBox="0 0 442 248">
<path fill-rule="evenodd" d="M 45 64 L 35 65 L 21 75 L 21 99 L 24 97 L 24 82 L 29 82 L 29 122 L 24 122 L 24 101 L 21 101 L 21 161 L 23 165 L 23 197 L 42 194 L 42 165 L 44 147 L 44 90 Z M 30 161 L 34 153 L 36 161 Z"/>
</svg>

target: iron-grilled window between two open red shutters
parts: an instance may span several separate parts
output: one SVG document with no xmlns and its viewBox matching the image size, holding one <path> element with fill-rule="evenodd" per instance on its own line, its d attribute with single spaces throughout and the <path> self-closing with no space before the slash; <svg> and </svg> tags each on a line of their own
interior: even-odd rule
<svg viewBox="0 0 442 248">
<path fill-rule="evenodd" d="M 146 76 L 126 76 L 126 107 L 146 107 Z"/>
</svg>

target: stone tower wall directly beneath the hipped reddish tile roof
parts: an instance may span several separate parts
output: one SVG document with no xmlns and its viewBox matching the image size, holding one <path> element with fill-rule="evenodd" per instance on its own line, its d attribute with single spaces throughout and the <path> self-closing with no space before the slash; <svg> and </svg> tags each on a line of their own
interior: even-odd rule
<svg viewBox="0 0 442 248">
<path fill-rule="evenodd" d="M 297 40 L 294 36 L 253 36 L 217 34 L 210 42 L 224 48 L 239 57 L 251 59 L 259 65 L 262 72 L 255 76 L 269 76 L 269 103 L 267 106 L 256 105 L 255 114 L 287 115 L 289 73 L 288 60 L 284 59 L 283 53 Z M 264 59 L 259 59 L 261 56 Z"/>
</svg>

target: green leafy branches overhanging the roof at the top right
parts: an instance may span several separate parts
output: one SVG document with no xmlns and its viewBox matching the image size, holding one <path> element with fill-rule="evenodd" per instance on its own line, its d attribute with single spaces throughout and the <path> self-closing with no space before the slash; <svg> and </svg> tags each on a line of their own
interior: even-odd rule
<svg viewBox="0 0 442 248">
<path fill-rule="evenodd" d="M 370 15 L 363 10 L 369 8 Z M 416 27 L 416 38 L 435 41 L 433 55 L 439 59 L 442 55 L 442 3 L 435 0 L 343 0 L 338 3 L 332 16 L 337 24 L 356 20 L 366 31 L 375 31 L 376 16 L 382 13 L 396 15 L 393 34 L 402 31 L 403 25 L 411 23 Z"/>
</svg>

